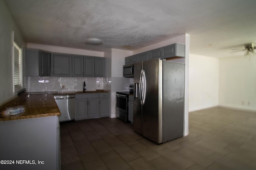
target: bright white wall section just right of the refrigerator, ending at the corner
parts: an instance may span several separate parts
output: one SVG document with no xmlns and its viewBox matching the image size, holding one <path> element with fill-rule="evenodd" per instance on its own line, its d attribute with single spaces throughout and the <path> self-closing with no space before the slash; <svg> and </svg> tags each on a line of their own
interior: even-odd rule
<svg viewBox="0 0 256 170">
<path fill-rule="evenodd" d="M 188 110 L 218 106 L 219 59 L 190 54 L 188 75 Z"/>
</svg>

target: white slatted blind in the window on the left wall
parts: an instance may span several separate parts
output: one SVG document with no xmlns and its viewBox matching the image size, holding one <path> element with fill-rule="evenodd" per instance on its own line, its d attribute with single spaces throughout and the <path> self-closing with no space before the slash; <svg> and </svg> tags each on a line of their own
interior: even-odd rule
<svg viewBox="0 0 256 170">
<path fill-rule="evenodd" d="M 14 87 L 19 87 L 20 84 L 20 61 L 21 48 L 14 42 Z"/>
</svg>

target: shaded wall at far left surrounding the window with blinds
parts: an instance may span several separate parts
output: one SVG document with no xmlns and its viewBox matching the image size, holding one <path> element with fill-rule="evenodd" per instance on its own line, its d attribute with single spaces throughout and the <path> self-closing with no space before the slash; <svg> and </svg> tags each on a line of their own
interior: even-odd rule
<svg viewBox="0 0 256 170">
<path fill-rule="evenodd" d="M 6 3 L 0 0 L 0 105 L 13 98 L 12 80 L 12 31 L 14 38 L 21 45 L 24 44 L 20 33 Z"/>
</svg>

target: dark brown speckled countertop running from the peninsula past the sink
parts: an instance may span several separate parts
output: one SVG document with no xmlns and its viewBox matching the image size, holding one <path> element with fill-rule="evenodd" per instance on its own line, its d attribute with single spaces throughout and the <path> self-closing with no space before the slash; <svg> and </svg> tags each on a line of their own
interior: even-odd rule
<svg viewBox="0 0 256 170">
<path fill-rule="evenodd" d="M 60 115 L 60 110 L 55 102 L 54 95 L 66 95 L 76 93 L 104 93 L 106 90 L 95 91 L 74 91 L 74 92 L 24 92 L 17 98 L 0 106 L 0 112 L 6 110 L 7 107 L 24 106 L 25 111 L 22 115 L 0 117 L 0 121 L 27 119 L 34 117 L 45 117 Z"/>
</svg>

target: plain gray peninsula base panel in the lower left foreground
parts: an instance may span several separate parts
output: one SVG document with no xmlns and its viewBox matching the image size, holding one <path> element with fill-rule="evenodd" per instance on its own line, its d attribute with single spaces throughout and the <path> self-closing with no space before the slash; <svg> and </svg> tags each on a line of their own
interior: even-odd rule
<svg viewBox="0 0 256 170">
<path fill-rule="evenodd" d="M 0 134 L 0 160 L 14 161 L 0 169 L 60 169 L 58 116 L 0 121 Z"/>
</svg>

